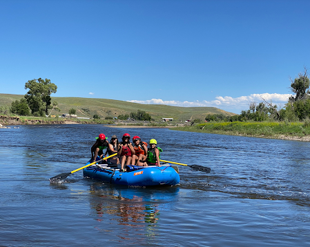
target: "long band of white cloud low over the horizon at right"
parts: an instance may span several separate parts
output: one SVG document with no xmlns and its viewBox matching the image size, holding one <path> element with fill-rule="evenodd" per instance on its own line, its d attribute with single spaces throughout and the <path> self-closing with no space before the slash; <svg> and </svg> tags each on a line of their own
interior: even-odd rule
<svg viewBox="0 0 310 247">
<path fill-rule="evenodd" d="M 241 96 L 237 98 L 229 97 L 229 96 L 217 96 L 212 101 L 174 101 L 174 100 L 162 100 L 162 99 L 148 99 L 145 101 L 141 100 L 130 100 L 128 102 L 133 103 L 145 103 L 145 104 L 162 104 L 162 105 L 168 105 L 168 106 L 209 106 L 209 107 L 229 107 L 229 108 L 249 108 L 249 103 L 252 101 L 255 101 L 257 103 L 260 103 L 264 100 L 270 102 L 272 101 L 275 104 L 281 104 L 284 105 L 284 103 L 287 103 L 289 100 L 290 94 L 284 94 L 280 95 L 277 93 L 269 94 L 269 93 L 263 93 L 263 94 L 253 94 L 249 96 Z"/>
</svg>

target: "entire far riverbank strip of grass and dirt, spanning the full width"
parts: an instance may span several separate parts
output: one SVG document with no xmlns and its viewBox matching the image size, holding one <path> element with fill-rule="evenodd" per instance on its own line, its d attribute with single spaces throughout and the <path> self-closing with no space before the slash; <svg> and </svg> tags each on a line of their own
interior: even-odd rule
<svg viewBox="0 0 310 247">
<path fill-rule="evenodd" d="M 274 139 L 290 139 L 310 141 L 310 121 L 290 122 L 224 122 L 197 124 L 195 126 L 180 126 L 180 123 L 146 122 L 146 121 L 114 121 L 104 119 L 64 119 L 60 117 L 7 117 L 0 116 L 0 124 L 106 124 L 113 127 L 128 128 L 171 128 L 173 130 L 205 132 L 220 135 L 239 135 L 245 137 L 263 137 Z M 184 125 L 184 124 L 182 124 Z"/>
</svg>

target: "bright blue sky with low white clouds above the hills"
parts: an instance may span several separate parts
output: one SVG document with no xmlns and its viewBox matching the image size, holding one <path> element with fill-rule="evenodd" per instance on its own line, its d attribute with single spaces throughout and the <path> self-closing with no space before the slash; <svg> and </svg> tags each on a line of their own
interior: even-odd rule
<svg viewBox="0 0 310 247">
<path fill-rule="evenodd" d="M 310 1 L 0 0 L 0 92 L 39 77 L 54 97 L 284 106 L 310 71 Z"/>
</svg>

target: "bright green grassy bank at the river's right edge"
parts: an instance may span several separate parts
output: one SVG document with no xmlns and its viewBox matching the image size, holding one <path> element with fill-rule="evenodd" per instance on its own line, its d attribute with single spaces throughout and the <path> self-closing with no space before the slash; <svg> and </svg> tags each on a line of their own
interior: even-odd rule
<svg viewBox="0 0 310 247">
<path fill-rule="evenodd" d="M 196 126 L 177 127 L 173 130 L 310 141 L 310 121 L 300 123 L 236 121 L 197 124 Z"/>
</svg>

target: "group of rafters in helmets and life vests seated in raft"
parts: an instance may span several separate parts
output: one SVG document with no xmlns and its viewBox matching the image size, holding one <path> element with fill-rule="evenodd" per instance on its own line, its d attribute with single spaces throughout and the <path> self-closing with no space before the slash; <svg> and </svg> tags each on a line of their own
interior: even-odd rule
<svg viewBox="0 0 310 247">
<path fill-rule="evenodd" d="M 117 155 L 108 159 L 110 164 L 121 164 L 121 170 L 124 170 L 124 166 L 161 166 L 160 165 L 160 152 L 162 148 L 157 147 L 157 141 L 151 139 L 148 144 L 141 141 L 137 135 L 133 137 L 133 144 L 130 142 L 130 135 L 125 133 L 122 137 L 122 141 L 118 141 L 116 135 L 113 135 L 110 139 L 110 143 L 106 139 L 106 135 L 100 134 L 97 137 L 97 141 L 91 148 L 92 162 L 99 155 L 100 159 L 103 156 L 113 155 L 117 152 Z"/>
</svg>

